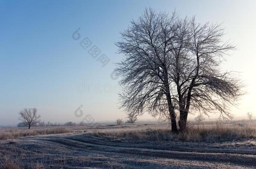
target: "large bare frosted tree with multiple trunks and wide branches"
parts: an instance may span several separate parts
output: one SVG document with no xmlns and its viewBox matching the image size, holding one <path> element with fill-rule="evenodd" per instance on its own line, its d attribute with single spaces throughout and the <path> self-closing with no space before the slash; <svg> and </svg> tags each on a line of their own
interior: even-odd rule
<svg viewBox="0 0 256 169">
<path fill-rule="evenodd" d="M 125 56 L 115 72 L 122 76 L 121 107 L 142 115 L 164 116 L 172 131 L 186 128 L 189 112 L 220 112 L 232 118 L 227 106 L 242 94 L 232 72 L 220 64 L 234 46 L 222 42 L 220 25 L 201 25 L 194 18 L 181 19 L 172 13 L 146 9 L 131 21 L 116 43 Z M 178 119 L 178 126 L 176 123 Z"/>
</svg>

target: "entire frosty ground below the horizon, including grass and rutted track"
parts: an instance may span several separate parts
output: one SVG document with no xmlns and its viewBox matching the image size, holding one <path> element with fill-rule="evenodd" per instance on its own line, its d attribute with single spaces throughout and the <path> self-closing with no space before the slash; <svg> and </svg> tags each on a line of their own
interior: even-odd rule
<svg viewBox="0 0 256 169">
<path fill-rule="evenodd" d="M 256 122 L 0 129 L 0 169 L 253 168 Z"/>
</svg>

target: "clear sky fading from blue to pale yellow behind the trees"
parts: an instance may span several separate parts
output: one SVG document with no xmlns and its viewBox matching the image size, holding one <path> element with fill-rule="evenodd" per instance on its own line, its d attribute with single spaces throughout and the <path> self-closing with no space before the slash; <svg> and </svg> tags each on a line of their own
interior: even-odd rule
<svg viewBox="0 0 256 169">
<path fill-rule="evenodd" d="M 113 62 L 121 59 L 114 45 L 119 32 L 137 19 L 145 7 L 180 16 L 196 15 L 197 21 L 223 23 L 226 38 L 238 50 L 224 63 L 225 70 L 240 71 L 248 94 L 233 108 L 236 116 L 255 112 L 256 1 L 0 1 L 0 126 L 17 124 L 18 112 L 24 107 L 37 107 L 42 120 L 51 122 L 81 121 L 74 116 L 83 105 L 84 115 L 95 121 L 124 118 L 118 96 L 112 93 L 79 93 L 84 80 L 90 84 L 111 84 Z M 102 67 L 97 58 L 73 40 L 80 29 L 81 39 L 88 37 L 92 45 L 110 62 Z M 256 114 L 255 114 L 256 116 Z M 149 119 L 145 115 L 141 119 Z"/>
</svg>

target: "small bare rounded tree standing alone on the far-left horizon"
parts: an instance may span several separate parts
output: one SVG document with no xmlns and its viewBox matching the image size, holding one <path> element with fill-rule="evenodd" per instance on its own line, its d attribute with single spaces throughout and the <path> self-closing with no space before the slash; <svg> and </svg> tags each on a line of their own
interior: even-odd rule
<svg viewBox="0 0 256 169">
<path fill-rule="evenodd" d="M 41 117 L 37 114 L 37 108 L 24 108 L 18 114 L 20 115 L 18 119 L 27 124 L 29 129 L 33 124 L 39 123 Z"/>
</svg>

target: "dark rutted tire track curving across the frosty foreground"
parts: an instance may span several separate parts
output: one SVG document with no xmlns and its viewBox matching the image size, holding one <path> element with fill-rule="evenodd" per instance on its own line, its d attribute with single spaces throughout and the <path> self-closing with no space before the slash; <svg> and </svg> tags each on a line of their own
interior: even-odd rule
<svg viewBox="0 0 256 169">
<path fill-rule="evenodd" d="M 31 140 L 32 138 L 30 138 Z M 157 147 L 135 147 L 131 145 L 120 145 L 108 143 L 95 138 L 79 137 L 79 136 L 51 136 L 44 138 L 33 138 L 34 140 L 54 142 L 71 148 L 79 149 L 78 151 L 93 150 L 100 152 L 112 152 L 130 155 L 184 159 L 193 161 L 207 161 L 226 164 L 238 164 L 243 166 L 255 166 L 256 156 L 249 154 L 230 154 L 230 153 L 206 153 L 206 152 L 189 152 L 162 150 Z"/>
</svg>

